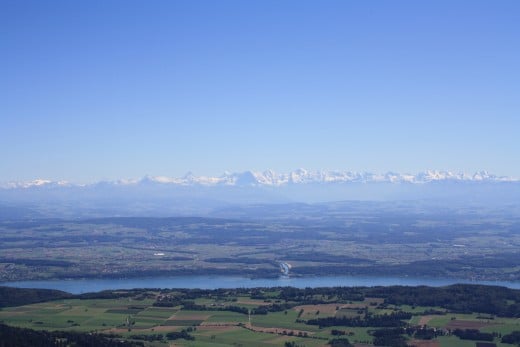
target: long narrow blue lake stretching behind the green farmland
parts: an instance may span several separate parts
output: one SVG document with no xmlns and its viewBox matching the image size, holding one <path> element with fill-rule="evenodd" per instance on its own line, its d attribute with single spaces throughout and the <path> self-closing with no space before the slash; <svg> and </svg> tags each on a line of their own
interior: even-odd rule
<svg viewBox="0 0 520 347">
<path fill-rule="evenodd" d="M 412 277 L 361 277 L 361 276 L 324 276 L 298 278 L 255 278 L 238 276 L 180 276 L 180 277 L 141 277 L 126 279 L 78 279 L 18 281 L 0 283 L 3 286 L 19 288 L 59 289 L 73 294 L 98 292 L 107 289 L 132 288 L 254 288 L 254 287 L 335 287 L 335 286 L 391 286 L 426 285 L 432 287 L 455 283 L 473 283 L 497 285 L 520 289 L 520 282 L 506 281 L 464 281 L 448 278 L 412 278 Z"/>
</svg>

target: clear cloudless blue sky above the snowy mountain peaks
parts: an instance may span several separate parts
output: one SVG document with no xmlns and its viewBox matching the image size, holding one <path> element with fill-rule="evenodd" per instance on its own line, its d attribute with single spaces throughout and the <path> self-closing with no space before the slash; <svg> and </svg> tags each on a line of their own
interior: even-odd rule
<svg viewBox="0 0 520 347">
<path fill-rule="evenodd" d="M 0 1 L 0 181 L 520 177 L 520 1 Z"/>
</svg>

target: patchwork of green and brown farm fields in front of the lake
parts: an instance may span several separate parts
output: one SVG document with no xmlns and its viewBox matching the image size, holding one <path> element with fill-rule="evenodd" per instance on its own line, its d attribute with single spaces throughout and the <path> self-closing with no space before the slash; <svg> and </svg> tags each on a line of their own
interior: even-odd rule
<svg viewBox="0 0 520 347">
<path fill-rule="evenodd" d="M 462 340 L 454 335 L 456 329 L 474 329 L 492 334 L 492 341 L 488 340 L 488 343 L 506 347 L 513 345 L 502 343 L 501 337 L 520 331 L 520 312 L 515 311 L 520 293 L 516 290 L 464 285 L 445 289 L 389 288 L 384 291 L 380 288 L 325 288 L 311 290 L 312 295 L 309 295 L 309 289 L 294 288 L 118 291 L 106 299 L 92 298 L 96 294 L 89 294 L 4 307 L 0 310 L 0 322 L 34 330 L 112 334 L 145 346 L 169 346 L 171 343 L 175 346 L 285 346 L 292 342 L 298 346 L 327 346 L 337 337 L 348 338 L 352 345 L 362 346 L 377 342 L 377 331 L 387 331 L 384 329 L 394 326 L 408 329 L 399 334 L 400 343 L 407 341 L 419 346 L 426 343 L 421 340 L 423 335 L 419 335 L 421 327 L 425 327 L 435 332 L 428 340 L 428 346 L 474 347 L 478 340 Z M 439 298 L 450 291 L 463 292 L 465 296 L 460 299 L 462 302 L 452 298 L 451 304 L 444 305 L 391 303 L 396 297 L 401 301 L 417 301 L 418 294 L 424 290 Z M 337 294 L 331 295 L 331 291 Z M 373 296 L 379 292 L 384 293 L 380 298 Z M 353 295 L 369 293 L 370 298 L 349 300 Z M 496 302 L 500 301 L 500 296 L 506 298 L 502 300 L 502 306 L 494 309 L 509 308 L 511 315 L 450 310 L 450 305 L 468 310 L 471 305 L 480 305 L 479 300 L 485 300 L 485 296 Z M 392 320 L 395 314 L 402 318 Z M 377 317 L 383 319 L 377 320 Z M 367 325 L 368 322 L 374 322 L 374 325 Z M 190 339 L 168 336 L 169 333 L 185 333 Z M 399 345 L 392 343 L 389 345 Z"/>
</svg>

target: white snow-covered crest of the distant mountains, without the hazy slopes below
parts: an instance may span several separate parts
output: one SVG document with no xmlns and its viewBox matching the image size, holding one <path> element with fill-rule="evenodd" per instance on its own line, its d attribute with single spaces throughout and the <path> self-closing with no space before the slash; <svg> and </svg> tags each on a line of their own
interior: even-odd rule
<svg viewBox="0 0 520 347">
<path fill-rule="evenodd" d="M 279 187 L 295 184 L 331 184 L 331 183 L 411 183 L 424 184 L 430 182 L 520 182 L 519 179 L 497 176 L 487 171 L 474 174 L 453 173 L 450 171 L 428 170 L 417 174 L 387 172 L 383 174 L 353 171 L 308 171 L 298 169 L 289 173 L 276 173 L 272 170 L 264 172 L 245 171 L 241 173 L 224 173 L 218 177 L 196 176 L 188 173 L 183 177 L 145 176 L 142 179 L 124 179 L 111 182 L 97 182 L 79 185 L 67 181 L 36 179 L 27 182 L 9 182 L 0 185 L 3 189 L 59 188 L 95 185 L 135 186 L 142 184 L 164 184 L 178 186 L 270 186 Z"/>
</svg>

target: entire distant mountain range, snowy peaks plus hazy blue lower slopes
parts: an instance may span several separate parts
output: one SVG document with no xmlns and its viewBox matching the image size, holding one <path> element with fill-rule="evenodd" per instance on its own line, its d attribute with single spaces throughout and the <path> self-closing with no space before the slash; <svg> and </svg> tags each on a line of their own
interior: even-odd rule
<svg viewBox="0 0 520 347">
<path fill-rule="evenodd" d="M 247 206 L 267 206 L 266 211 L 271 211 L 278 207 L 269 206 L 337 201 L 429 201 L 440 206 L 518 206 L 520 211 L 520 180 L 485 171 L 376 174 L 304 169 L 218 177 L 192 173 L 178 178 L 146 176 L 84 185 L 38 179 L 0 186 L 0 220 L 221 216 L 219 211 L 240 214 Z"/>
</svg>

